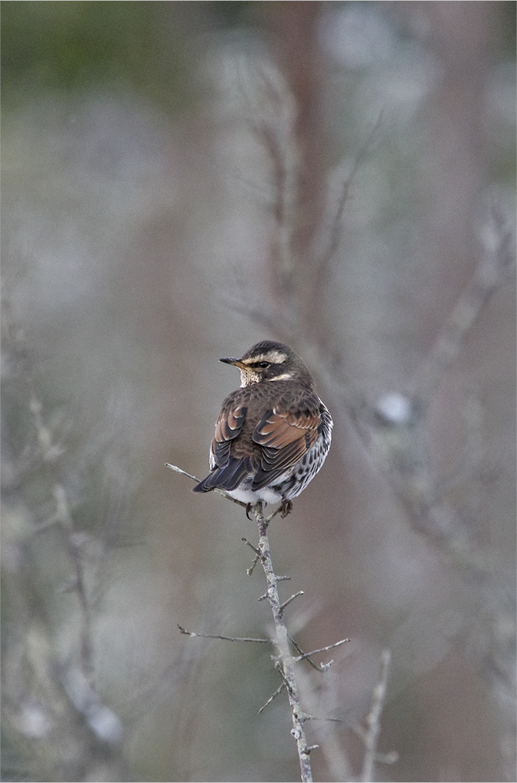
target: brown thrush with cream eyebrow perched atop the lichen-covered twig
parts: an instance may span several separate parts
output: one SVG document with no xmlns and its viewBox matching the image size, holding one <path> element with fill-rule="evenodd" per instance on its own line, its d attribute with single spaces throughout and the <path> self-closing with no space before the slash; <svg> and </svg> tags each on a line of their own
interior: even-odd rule
<svg viewBox="0 0 517 783">
<path fill-rule="evenodd" d="M 291 499 L 315 477 L 331 447 L 332 416 L 308 368 L 280 342 L 258 342 L 238 367 L 241 388 L 223 402 L 210 447 L 210 473 L 194 492 L 226 490 L 250 507 Z"/>
</svg>

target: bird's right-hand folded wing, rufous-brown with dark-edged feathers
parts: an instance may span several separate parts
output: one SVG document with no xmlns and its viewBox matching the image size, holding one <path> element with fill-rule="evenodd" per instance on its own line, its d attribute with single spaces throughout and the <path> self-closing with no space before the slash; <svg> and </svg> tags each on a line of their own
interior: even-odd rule
<svg viewBox="0 0 517 783">
<path fill-rule="evenodd" d="M 260 470 L 253 481 L 253 489 L 275 481 L 298 462 L 316 443 L 321 426 L 319 406 L 268 411 L 253 433 L 253 441 L 261 447 Z"/>
</svg>

